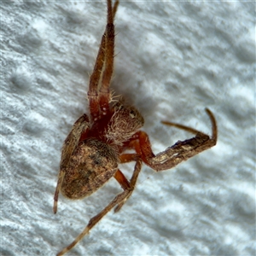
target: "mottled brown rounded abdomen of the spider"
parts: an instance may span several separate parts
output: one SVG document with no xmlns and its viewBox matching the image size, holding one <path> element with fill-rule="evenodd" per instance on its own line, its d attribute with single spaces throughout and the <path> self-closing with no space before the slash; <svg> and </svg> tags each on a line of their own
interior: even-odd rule
<svg viewBox="0 0 256 256">
<path fill-rule="evenodd" d="M 61 184 L 61 193 L 80 199 L 102 187 L 118 170 L 118 157 L 107 143 L 90 138 L 74 150 Z"/>
</svg>

